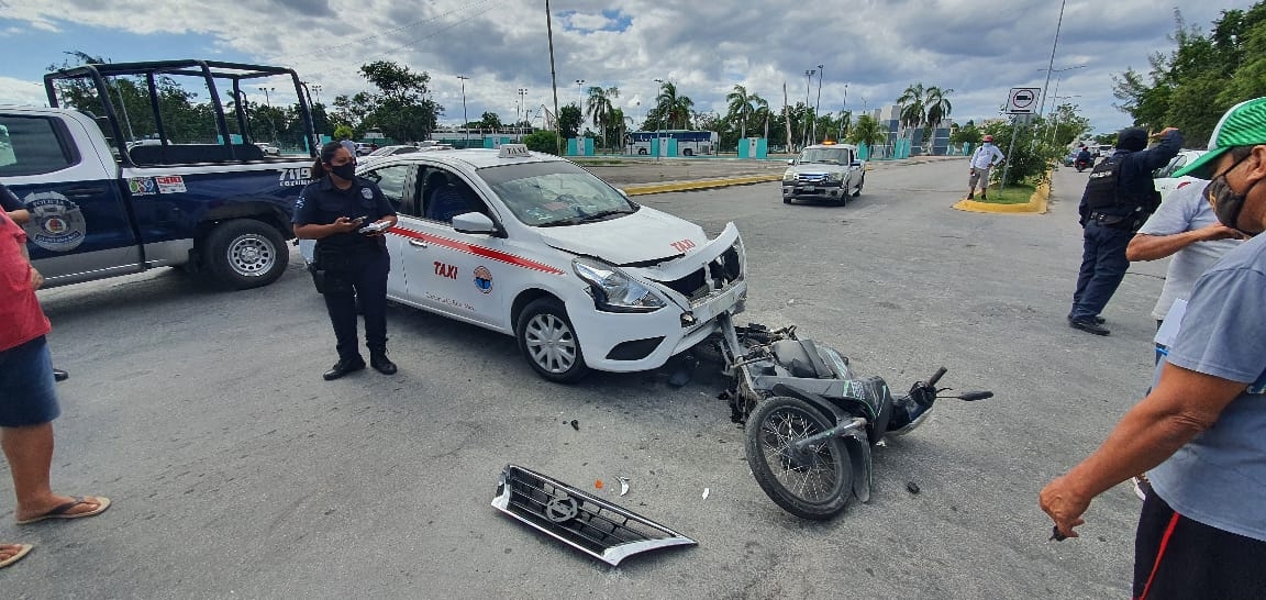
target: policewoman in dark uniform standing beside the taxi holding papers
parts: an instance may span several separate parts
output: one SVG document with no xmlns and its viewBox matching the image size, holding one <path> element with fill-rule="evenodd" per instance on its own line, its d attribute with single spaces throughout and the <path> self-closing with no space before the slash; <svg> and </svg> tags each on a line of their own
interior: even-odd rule
<svg viewBox="0 0 1266 600">
<path fill-rule="evenodd" d="M 315 239 L 313 280 L 325 296 L 325 309 L 338 341 L 338 362 L 325 381 L 365 368 L 357 349 L 356 301 L 365 313 L 365 346 L 370 366 L 396 372 L 387 359 L 387 228 L 396 214 L 377 184 L 356 176 L 356 157 L 338 142 L 322 147 L 313 165 L 313 182 L 295 201 L 295 235 Z M 373 225 L 373 227 L 370 227 Z"/>
</svg>

